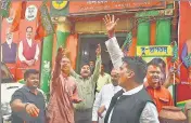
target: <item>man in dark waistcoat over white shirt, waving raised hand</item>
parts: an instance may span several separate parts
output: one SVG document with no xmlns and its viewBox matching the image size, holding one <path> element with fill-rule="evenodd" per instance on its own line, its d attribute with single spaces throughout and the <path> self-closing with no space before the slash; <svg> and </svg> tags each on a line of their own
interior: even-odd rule
<svg viewBox="0 0 191 123">
<path fill-rule="evenodd" d="M 114 15 L 105 16 L 110 38 L 105 44 L 114 67 L 119 68 L 123 90 L 113 96 L 110 107 L 105 105 L 104 123 L 160 123 L 156 107 L 143 87 L 147 63 L 141 57 L 123 56 L 114 35 L 117 20 Z"/>
</svg>

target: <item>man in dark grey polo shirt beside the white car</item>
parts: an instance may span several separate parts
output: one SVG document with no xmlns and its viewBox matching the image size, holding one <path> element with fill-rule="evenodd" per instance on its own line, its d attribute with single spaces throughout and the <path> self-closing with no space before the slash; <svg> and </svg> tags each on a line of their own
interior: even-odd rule
<svg viewBox="0 0 191 123">
<path fill-rule="evenodd" d="M 24 73 L 26 84 L 11 99 L 12 123 L 46 123 L 46 98 L 39 86 L 39 71 L 28 69 Z"/>
</svg>

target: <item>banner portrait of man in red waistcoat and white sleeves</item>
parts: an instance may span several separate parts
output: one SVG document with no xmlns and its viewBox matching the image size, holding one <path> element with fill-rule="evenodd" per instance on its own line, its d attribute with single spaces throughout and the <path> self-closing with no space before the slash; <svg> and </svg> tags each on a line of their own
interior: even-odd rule
<svg viewBox="0 0 191 123">
<path fill-rule="evenodd" d="M 28 66 L 35 65 L 39 56 L 38 43 L 33 39 L 33 27 L 26 27 L 26 39 L 20 42 L 18 58 Z"/>
</svg>

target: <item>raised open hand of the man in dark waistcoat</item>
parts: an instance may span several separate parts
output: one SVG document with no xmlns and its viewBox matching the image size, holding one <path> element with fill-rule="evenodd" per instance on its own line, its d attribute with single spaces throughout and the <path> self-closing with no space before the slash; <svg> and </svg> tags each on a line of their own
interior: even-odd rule
<svg viewBox="0 0 191 123">
<path fill-rule="evenodd" d="M 117 25 L 117 22 L 119 20 L 119 18 L 117 18 L 115 20 L 115 16 L 114 15 L 105 15 L 103 18 L 104 23 L 105 23 L 105 27 L 106 27 L 106 31 L 110 38 L 112 38 L 115 33 L 115 26 Z"/>
</svg>

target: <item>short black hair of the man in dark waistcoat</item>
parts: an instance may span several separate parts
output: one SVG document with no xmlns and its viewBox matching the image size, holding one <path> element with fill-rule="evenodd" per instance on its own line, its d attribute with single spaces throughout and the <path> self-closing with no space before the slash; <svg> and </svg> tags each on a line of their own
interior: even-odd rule
<svg viewBox="0 0 191 123">
<path fill-rule="evenodd" d="M 135 81 L 138 83 L 143 83 L 148 68 L 147 63 L 142 59 L 142 57 L 125 56 L 123 62 L 127 64 L 128 69 L 131 69 L 135 72 Z"/>
</svg>

